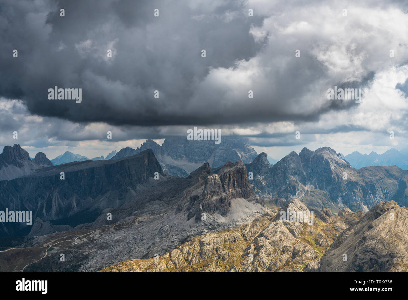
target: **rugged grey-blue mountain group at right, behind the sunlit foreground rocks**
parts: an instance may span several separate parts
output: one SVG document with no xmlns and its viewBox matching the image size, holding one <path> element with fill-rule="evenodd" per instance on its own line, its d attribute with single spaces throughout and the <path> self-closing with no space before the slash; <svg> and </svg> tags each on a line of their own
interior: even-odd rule
<svg viewBox="0 0 408 300">
<path fill-rule="evenodd" d="M 366 212 L 378 202 L 408 204 L 408 171 L 397 166 L 355 169 L 329 147 L 292 151 L 271 166 L 266 153 L 247 165 L 260 198 L 271 204 L 299 199 L 315 209 L 348 207 Z"/>
</svg>

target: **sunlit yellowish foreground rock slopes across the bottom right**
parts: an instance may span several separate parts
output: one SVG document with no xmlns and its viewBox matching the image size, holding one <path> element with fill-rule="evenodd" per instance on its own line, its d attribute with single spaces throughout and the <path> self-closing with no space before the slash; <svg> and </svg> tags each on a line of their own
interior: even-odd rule
<svg viewBox="0 0 408 300">
<path fill-rule="evenodd" d="M 306 209 L 298 200 L 287 208 Z M 316 217 L 330 222 L 318 219 L 313 225 L 281 222 L 277 211 L 270 211 L 237 229 L 190 238 L 162 256 L 126 260 L 102 271 L 407 271 L 407 211 L 392 201 L 366 215 L 345 209 L 340 217 L 325 210 Z M 394 220 L 385 220 L 390 213 Z M 345 218 L 360 220 L 348 226 Z"/>
</svg>

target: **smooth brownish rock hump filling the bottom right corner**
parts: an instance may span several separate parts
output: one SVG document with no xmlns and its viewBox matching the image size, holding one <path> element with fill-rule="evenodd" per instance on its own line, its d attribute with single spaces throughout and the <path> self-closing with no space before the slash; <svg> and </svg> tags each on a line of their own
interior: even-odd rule
<svg viewBox="0 0 408 300">
<path fill-rule="evenodd" d="M 346 230 L 322 258 L 322 271 L 406 272 L 408 209 L 380 202 Z"/>
</svg>

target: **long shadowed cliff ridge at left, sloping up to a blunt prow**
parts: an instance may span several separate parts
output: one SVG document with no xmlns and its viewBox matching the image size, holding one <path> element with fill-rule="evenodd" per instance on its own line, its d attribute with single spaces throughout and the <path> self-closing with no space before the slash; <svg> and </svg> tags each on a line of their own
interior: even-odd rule
<svg viewBox="0 0 408 300">
<path fill-rule="evenodd" d="M 60 172 L 64 172 L 64 180 L 60 179 Z M 0 205 L 9 210 L 33 211 L 33 218 L 43 221 L 83 212 L 80 221 L 91 222 L 103 209 L 122 206 L 140 185 L 149 180 L 155 182 L 155 172 L 164 176 L 152 150 L 119 160 L 88 160 L 41 168 L 29 176 L 0 181 Z M 0 233 L 5 231 L 0 229 Z"/>
</svg>

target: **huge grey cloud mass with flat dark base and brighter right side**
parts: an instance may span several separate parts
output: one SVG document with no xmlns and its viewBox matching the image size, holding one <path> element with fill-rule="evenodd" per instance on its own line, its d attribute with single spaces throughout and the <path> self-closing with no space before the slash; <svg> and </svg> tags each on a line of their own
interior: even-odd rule
<svg viewBox="0 0 408 300">
<path fill-rule="evenodd" d="M 141 126 L 313 121 L 353 108 L 353 101 L 324 98 L 327 88 L 344 81 L 353 87 L 370 83 L 385 61 L 371 55 L 379 49 L 369 49 L 370 38 L 336 40 L 330 36 L 336 23 L 319 33 L 319 16 L 310 10 L 308 16 L 281 3 L 272 7 L 274 15 L 264 15 L 268 9 L 256 2 L 249 18 L 246 1 L 5 1 L 0 64 L 7 72 L 0 75 L 0 96 L 22 99 L 40 116 Z M 322 22 L 328 22 L 327 11 L 340 15 L 341 7 L 317 10 Z M 350 34 L 356 22 L 345 25 Z M 337 54 L 346 62 L 337 62 L 333 47 L 342 39 L 346 48 Z M 353 67 L 359 69 L 345 76 Z M 82 103 L 48 100 L 55 85 L 82 88 Z"/>
</svg>

